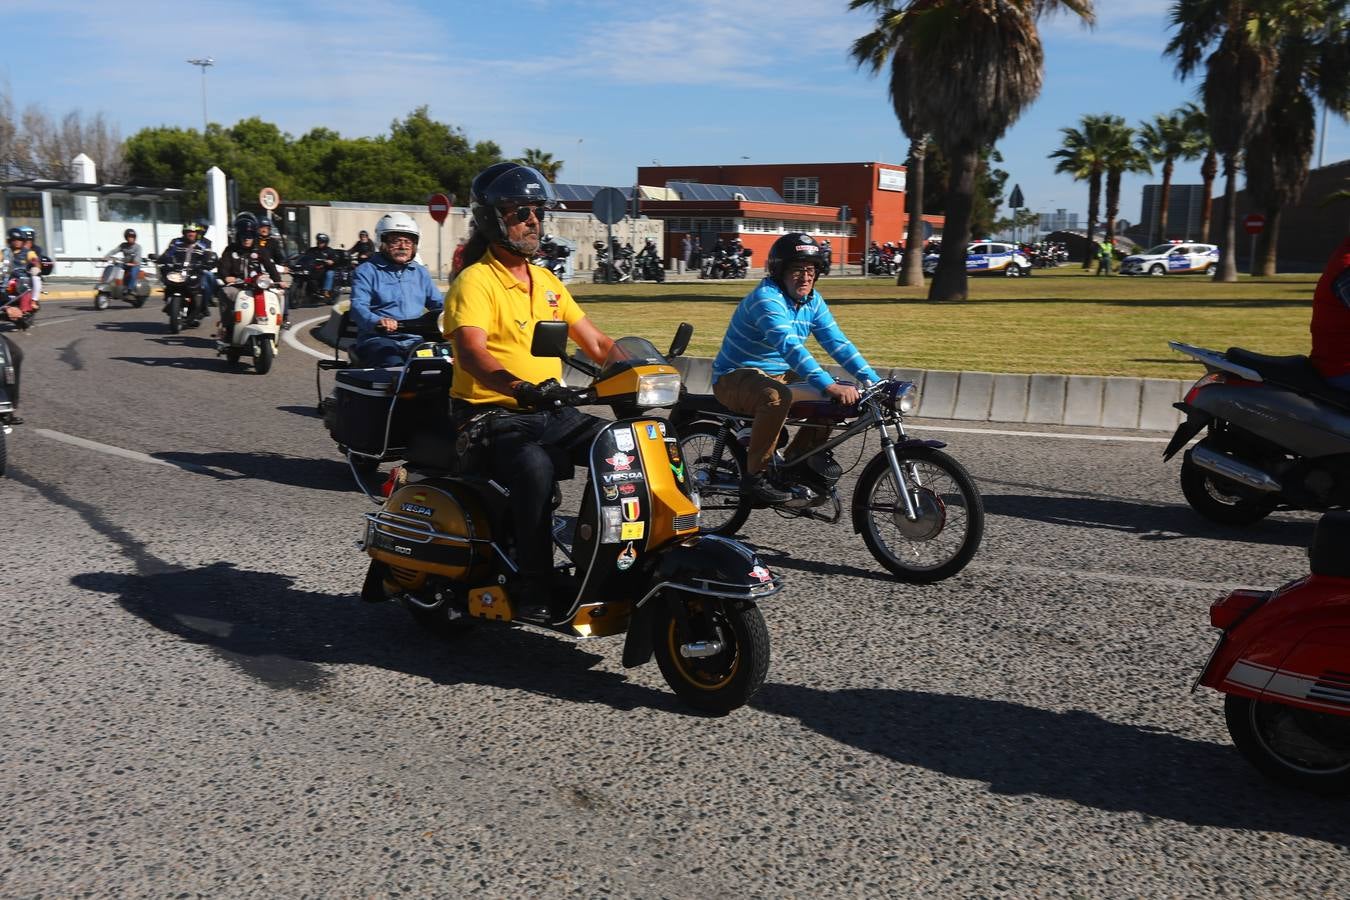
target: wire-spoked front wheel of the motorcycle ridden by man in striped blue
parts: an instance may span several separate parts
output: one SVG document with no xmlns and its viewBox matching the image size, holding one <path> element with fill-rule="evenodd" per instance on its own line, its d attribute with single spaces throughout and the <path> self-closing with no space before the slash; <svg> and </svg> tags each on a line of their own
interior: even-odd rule
<svg viewBox="0 0 1350 900">
<path fill-rule="evenodd" d="M 876 561 L 911 584 L 960 572 L 984 537 L 984 501 L 965 467 L 942 451 L 896 448 L 910 501 L 910 521 L 886 453 L 878 453 L 853 488 L 853 528 Z"/>
</svg>

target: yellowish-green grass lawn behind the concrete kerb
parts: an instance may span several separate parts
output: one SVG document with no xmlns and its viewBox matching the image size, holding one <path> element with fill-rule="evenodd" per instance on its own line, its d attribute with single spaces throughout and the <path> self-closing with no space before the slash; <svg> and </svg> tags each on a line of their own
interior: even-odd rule
<svg viewBox="0 0 1350 900">
<path fill-rule="evenodd" d="M 1111 277 L 1076 266 L 1031 278 L 971 279 L 971 300 L 933 304 L 927 287 L 890 278 L 824 278 L 834 317 L 873 366 L 987 372 L 1062 372 L 1196 378 L 1197 363 L 1168 340 L 1307 354 L 1315 274 Z M 732 310 L 753 282 L 593 285 L 571 290 L 609 335 L 641 335 L 664 348 L 675 327 L 694 324 L 690 354 L 713 356 Z M 818 359 L 824 351 L 814 345 Z"/>
</svg>

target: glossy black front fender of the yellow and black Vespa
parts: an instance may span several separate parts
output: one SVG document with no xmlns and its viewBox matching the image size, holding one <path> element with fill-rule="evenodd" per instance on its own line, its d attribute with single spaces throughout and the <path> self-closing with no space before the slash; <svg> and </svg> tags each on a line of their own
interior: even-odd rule
<svg viewBox="0 0 1350 900">
<path fill-rule="evenodd" d="M 698 534 L 667 544 L 649 556 L 651 588 L 637 602 L 624 640 L 624 668 L 652 658 L 652 619 L 671 594 L 702 594 L 756 603 L 783 590 L 783 576 L 768 571 L 755 551 L 725 537 Z"/>
</svg>

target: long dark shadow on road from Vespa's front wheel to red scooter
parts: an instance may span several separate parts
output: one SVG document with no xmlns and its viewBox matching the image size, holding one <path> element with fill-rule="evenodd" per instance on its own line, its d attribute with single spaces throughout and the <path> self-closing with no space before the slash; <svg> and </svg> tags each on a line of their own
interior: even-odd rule
<svg viewBox="0 0 1350 900">
<path fill-rule="evenodd" d="M 751 706 L 903 765 L 1108 812 L 1343 845 L 1345 803 L 1265 781 L 1233 746 L 1084 711 L 923 691 L 767 684 Z"/>
</svg>

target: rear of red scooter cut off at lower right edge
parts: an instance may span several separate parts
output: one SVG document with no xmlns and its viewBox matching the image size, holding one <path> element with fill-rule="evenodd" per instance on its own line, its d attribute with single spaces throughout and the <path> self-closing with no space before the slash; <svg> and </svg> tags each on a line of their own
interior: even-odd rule
<svg viewBox="0 0 1350 900">
<path fill-rule="evenodd" d="M 1223 629 L 1196 685 L 1227 695 L 1228 734 L 1262 775 L 1320 793 L 1350 791 L 1350 513 L 1327 513 L 1312 573 L 1210 607 Z M 1192 690 L 1195 690 L 1192 687 Z"/>
</svg>

